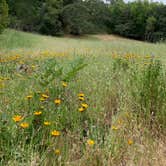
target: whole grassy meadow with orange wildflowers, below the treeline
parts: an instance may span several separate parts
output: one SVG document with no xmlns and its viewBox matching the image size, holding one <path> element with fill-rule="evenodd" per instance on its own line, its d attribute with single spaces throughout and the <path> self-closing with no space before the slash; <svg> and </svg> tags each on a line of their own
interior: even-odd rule
<svg viewBox="0 0 166 166">
<path fill-rule="evenodd" d="M 0 35 L 0 165 L 166 163 L 166 44 Z"/>
</svg>

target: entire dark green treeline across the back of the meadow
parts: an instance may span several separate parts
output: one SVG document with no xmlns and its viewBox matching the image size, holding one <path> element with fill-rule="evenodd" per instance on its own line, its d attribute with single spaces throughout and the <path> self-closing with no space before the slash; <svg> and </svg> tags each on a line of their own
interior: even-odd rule
<svg viewBox="0 0 166 166">
<path fill-rule="evenodd" d="M 0 29 L 47 35 L 113 33 L 138 40 L 166 39 L 166 5 L 123 0 L 0 0 Z M 5 9 L 6 8 L 6 9 Z"/>
</svg>

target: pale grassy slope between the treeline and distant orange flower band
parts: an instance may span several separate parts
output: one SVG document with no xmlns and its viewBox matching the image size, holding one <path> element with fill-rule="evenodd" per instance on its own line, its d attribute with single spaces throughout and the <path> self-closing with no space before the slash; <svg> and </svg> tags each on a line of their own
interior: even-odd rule
<svg viewBox="0 0 166 166">
<path fill-rule="evenodd" d="M 165 44 L 149 44 L 123 38 L 108 38 L 104 40 L 99 36 L 85 38 L 52 38 L 34 35 L 14 30 L 7 30 L 0 37 L 0 48 L 2 51 L 9 50 L 54 50 L 66 51 L 70 49 L 76 53 L 86 52 L 97 55 L 107 55 L 110 52 L 134 53 L 139 55 L 151 54 L 164 56 L 166 52 Z M 100 40 L 103 39 L 103 40 Z"/>
</svg>

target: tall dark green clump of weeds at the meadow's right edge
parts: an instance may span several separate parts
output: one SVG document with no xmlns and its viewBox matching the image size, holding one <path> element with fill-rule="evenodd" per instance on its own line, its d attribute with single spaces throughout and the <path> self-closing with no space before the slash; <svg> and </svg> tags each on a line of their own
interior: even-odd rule
<svg viewBox="0 0 166 166">
<path fill-rule="evenodd" d="M 131 94 L 138 106 L 138 117 L 144 119 L 150 128 L 156 126 L 164 131 L 166 80 L 161 62 L 152 59 L 146 67 L 131 74 L 131 81 Z"/>
</svg>

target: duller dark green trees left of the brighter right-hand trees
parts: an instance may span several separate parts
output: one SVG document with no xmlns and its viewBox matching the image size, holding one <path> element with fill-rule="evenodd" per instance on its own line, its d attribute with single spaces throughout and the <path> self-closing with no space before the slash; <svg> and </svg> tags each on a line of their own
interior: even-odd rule
<svg viewBox="0 0 166 166">
<path fill-rule="evenodd" d="M 48 35 L 107 31 L 109 9 L 100 0 L 7 0 L 10 27 Z"/>
</svg>

